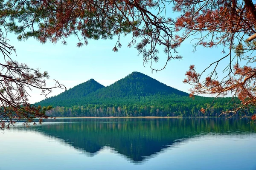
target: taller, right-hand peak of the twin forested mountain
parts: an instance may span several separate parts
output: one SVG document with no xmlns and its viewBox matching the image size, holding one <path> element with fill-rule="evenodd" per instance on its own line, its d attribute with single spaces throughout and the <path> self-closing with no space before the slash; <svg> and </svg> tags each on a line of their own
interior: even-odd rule
<svg viewBox="0 0 256 170">
<path fill-rule="evenodd" d="M 139 72 L 132 72 L 112 85 L 95 91 L 93 94 L 90 94 L 90 96 L 97 96 L 98 98 L 127 98 L 134 96 L 151 96 L 156 94 L 177 94 L 180 96 L 189 96 L 188 93 L 167 86 L 156 79 Z"/>
</svg>

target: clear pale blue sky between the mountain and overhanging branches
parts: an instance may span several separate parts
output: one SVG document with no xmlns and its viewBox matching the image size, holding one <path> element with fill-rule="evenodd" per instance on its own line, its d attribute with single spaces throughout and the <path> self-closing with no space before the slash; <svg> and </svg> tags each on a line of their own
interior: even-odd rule
<svg viewBox="0 0 256 170">
<path fill-rule="evenodd" d="M 186 78 L 185 73 L 189 65 L 194 64 L 200 72 L 224 55 L 221 54 L 222 48 L 198 47 L 193 53 L 192 42 L 187 40 L 177 49 L 178 54 L 183 56 L 182 60 L 171 60 L 166 69 L 152 74 L 149 65 L 143 66 L 143 57 L 138 55 L 137 49 L 134 46 L 127 47 L 128 42 L 131 41 L 130 35 L 121 39 L 122 47 L 118 52 L 112 51 L 116 44 L 116 37 L 113 40 L 88 40 L 89 44 L 81 48 L 76 46 L 78 42 L 76 37 L 69 37 L 67 45 L 62 45 L 61 42 L 41 44 L 33 38 L 20 42 L 17 41 L 17 35 L 12 33 L 8 33 L 7 37 L 9 44 L 13 45 L 17 52 L 17 56 L 11 55 L 13 60 L 26 63 L 31 68 L 40 68 L 41 71 L 49 72 L 47 87 L 54 86 L 53 79 L 56 79 L 67 89 L 92 78 L 104 86 L 111 85 L 133 71 L 138 71 L 189 93 L 189 88 L 192 87 L 182 82 Z M 160 62 L 156 67 L 162 68 L 166 55 L 160 53 L 159 57 Z M 220 63 L 222 68 L 226 65 L 225 61 Z M 219 71 L 221 72 L 221 69 Z M 63 91 L 63 89 L 54 89 L 48 97 Z M 40 91 L 35 89 L 29 91 L 29 94 L 31 103 L 45 99 L 40 95 Z"/>
</svg>

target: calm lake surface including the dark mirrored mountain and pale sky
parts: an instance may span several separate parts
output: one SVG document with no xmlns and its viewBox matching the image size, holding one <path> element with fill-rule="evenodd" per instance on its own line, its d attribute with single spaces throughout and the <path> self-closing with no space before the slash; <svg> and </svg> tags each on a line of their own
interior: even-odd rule
<svg viewBox="0 0 256 170">
<path fill-rule="evenodd" d="M 256 170 L 249 119 L 57 119 L 0 134 L 0 170 Z"/>
</svg>

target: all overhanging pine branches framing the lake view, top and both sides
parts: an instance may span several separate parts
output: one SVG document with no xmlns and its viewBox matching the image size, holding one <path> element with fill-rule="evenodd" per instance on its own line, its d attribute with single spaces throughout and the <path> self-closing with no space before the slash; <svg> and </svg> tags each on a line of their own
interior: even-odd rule
<svg viewBox="0 0 256 170">
<path fill-rule="evenodd" d="M 179 13 L 177 18 L 166 17 L 170 6 Z M 193 85 L 191 96 L 230 93 L 239 102 L 224 113 L 237 113 L 250 111 L 256 103 L 255 25 L 256 7 L 252 0 L 0 0 L 0 51 L 7 62 L 1 64 L 0 80 L 5 82 L 0 88 L 4 94 L 0 98 L 1 119 L 7 121 L 17 116 L 30 121 L 24 109 L 33 115 L 40 112 L 29 105 L 25 86 L 42 92 L 52 90 L 45 88 L 47 74 L 38 74 L 39 70 L 9 58 L 15 48 L 7 42 L 8 32 L 17 34 L 18 40 L 34 37 L 42 43 L 62 40 L 63 44 L 67 44 L 67 37 L 75 35 L 78 47 L 86 45 L 88 39 L 117 36 L 114 52 L 122 46 L 121 34 L 132 34 L 128 47 L 135 45 L 143 55 L 144 64 L 149 62 L 155 71 L 164 69 L 171 59 L 181 59 L 174 55 L 177 47 L 196 35 L 195 48 L 221 46 L 225 54 L 206 68 L 212 68 L 212 72 L 205 80 L 191 66 L 184 80 Z M 154 68 L 153 62 L 160 59 L 159 51 L 166 54 L 166 62 L 162 68 Z M 224 69 L 227 75 L 217 80 L 216 68 L 225 58 L 229 59 Z M 239 66 L 241 60 L 246 60 L 247 66 Z M 61 87 L 58 82 L 56 87 Z M 20 113 L 23 116 L 19 117 Z"/>
</svg>

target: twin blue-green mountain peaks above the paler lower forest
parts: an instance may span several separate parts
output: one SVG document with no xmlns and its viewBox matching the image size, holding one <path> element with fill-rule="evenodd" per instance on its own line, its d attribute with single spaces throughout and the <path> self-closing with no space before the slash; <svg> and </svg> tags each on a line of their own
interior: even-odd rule
<svg viewBox="0 0 256 170">
<path fill-rule="evenodd" d="M 91 87 L 93 85 L 93 88 Z M 89 79 L 67 91 L 62 92 L 56 96 L 44 99 L 40 102 L 35 103 L 35 105 L 53 105 L 64 106 L 61 103 L 68 103 L 70 99 L 76 101 L 75 104 L 83 104 L 81 100 L 87 101 L 88 98 L 114 98 L 114 97 L 143 97 L 151 95 L 166 95 L 166 94 L 177 94 L 180 96 L 188 96 L 189 94 L 162 82 L 159 82 L 152 77 L 149 77 L 143 73 L 134 71 L 128 74 L 126 77 L 119 79 L 109 86 L 103 86 L 94 79 Z M 94 104 L 94 103 L 92 103 Z"/>
</svg>

